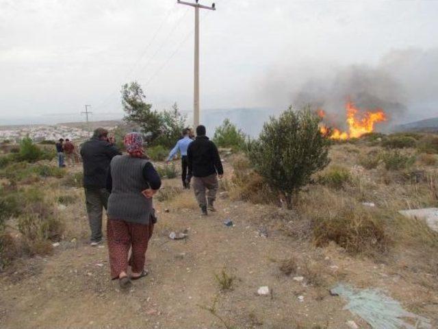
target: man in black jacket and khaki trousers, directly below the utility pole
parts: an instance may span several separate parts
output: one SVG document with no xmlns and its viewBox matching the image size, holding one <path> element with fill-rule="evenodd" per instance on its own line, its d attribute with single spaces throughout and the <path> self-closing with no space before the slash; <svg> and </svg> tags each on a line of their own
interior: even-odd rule
<svg viewBox="0 0 438 329">
<path fill-rule="evenodd" d="M 198 125 L 196 139 L 190 143 L 187 150 L 188 167 L 193 175 L 194 195 L 203 215 L 208 214 L 207 210 L 216 211 L 214 201 L 218 192 L 218 175 L 222 178 L 224 174 L 218 148 L 205 133 L 205 127 Z"/>
</svg>

